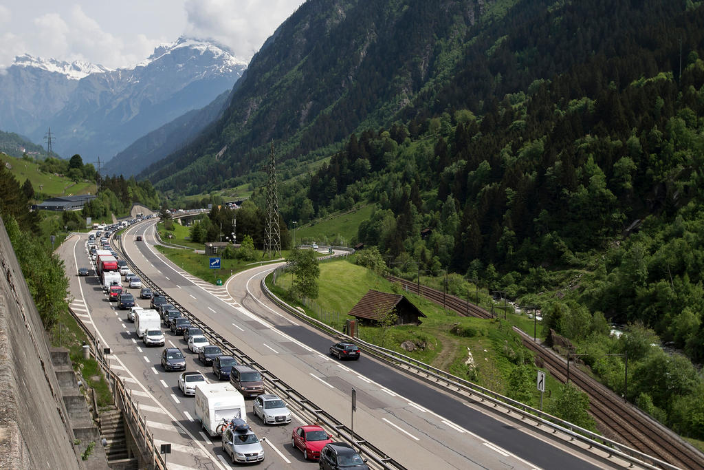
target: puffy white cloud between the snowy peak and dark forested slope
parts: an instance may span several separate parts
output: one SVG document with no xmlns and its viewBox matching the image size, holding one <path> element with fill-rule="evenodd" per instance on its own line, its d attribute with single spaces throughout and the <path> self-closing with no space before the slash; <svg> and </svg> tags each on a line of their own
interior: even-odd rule
<svg viewBox="0 0 704 470">
<path fill-rule="evenodd" d="M 249 60 L 303 0 L 186 0 L 186 33 L 213 38 Z"/>
</svg>

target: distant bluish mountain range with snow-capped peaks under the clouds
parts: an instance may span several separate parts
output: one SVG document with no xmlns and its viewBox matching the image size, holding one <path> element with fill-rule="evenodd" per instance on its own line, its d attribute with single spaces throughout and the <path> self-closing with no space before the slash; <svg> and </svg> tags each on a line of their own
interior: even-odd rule
<svg viewBox="0 0 704 470">
<path fill-rule="evenodd" d="M 115 70 L 25 54 L 0 73 L 0 129 L 42 142 L 51 128 L 57 154 L 108 161 L 230 92 L 245 68 L 226 47 L 187 37 Z"/>
</svg>

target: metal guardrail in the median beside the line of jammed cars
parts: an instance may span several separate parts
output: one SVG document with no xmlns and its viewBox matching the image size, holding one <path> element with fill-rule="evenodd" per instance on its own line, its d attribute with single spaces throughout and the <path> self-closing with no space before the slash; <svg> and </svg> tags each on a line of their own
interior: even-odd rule
<svg viewBox="0 0 704 470">
<path fill-rule="evenodd" d="M 305 414 L 306 417 L 312 419 L 315 422 L 322 423 L 329 429 L 333 429 L 335 433 L 337 433 L 338 438 L 341 438 L 342 440 L 345 440 L 346 442 L 353 445 L 353 447 L 356 447 L 359 450 L 360 454 L 363 454 L 365 457 L 377 464 L 378 468 L 391 470 L 406 469 L 406 467 L 401 465 L 399 462 L 396 462 L 395 459 L 389 457 L 386 452 L 383 452 L 375 445 L 369 443 L 358 433 L 353 432 L 351 428 L 348 428 L 344 423 L 332 416 L 332 414 L 329 414 L 325 411 L 325 409 L 322 409 L 322 407 L 319 407 L 311 400 L 308 400 L 306 396 L 296 391 L 293 387 L 279 379 L 277 376 L 268 371 L 265 367 L 258 364 L 254 359 L 249 357 L 243 351 L 239 350 L 239 348 L 237 348 L 229 340 L 220 335 L 220 333 L 213 330 L 213 328 L 210 328 L 210 326 L 208 326 L 206 323 L 203 323 L 203 321 L 199 320 L 196 316 L 194 316 L 194 314 L 191 314 L 188 309 L 183 307 L 173 297 L 168 295 L 163 290 L 159 289 L 156 283 L 153 283 L 151 278 L 149 278 L 149 276 L 146 276 L 144 271 L 139 269 L 134 264 L 134 262 L 132 262 L 130 256 L 125 253 L 124 247 L 122 245 L 122 237 L 120 235 L 117 235 L 116 240 L 113 239 L 113 241 L 119 242 L 120 247 L 118 248 L 118 251 L 122 254 L 123 259 L 125 259 L 125 261 L 130 264 L 132 269 L 134 269 L 133 272 L 139 275 L 139 277 L 142 279 L 142 283 L 149 283 L 155 293 L 158 292 L 159 294 L 163 295 L 165 299 L 168 300 L 168 303 L 176 307 L 179 311 L 181 311 L 184 317 L 191 321 L 191 324 L 194 327 L 201 328 L 201 330 L 203 330 L 203 334 L 206 336 L 206 338 L 208 338 L 210 344 L 217 345 L 218 347 L 220 347 L 222 351 L 226 352 L 227 354 L 230 354 L 232 357 L 237 359 L 239 364 L 249 365 L 253 369 L 259 371 L 262 375 L 262 378 L 264 379 L 265 384 L 268 387 L 268 390 L 276 390 L 280 393 L 280 395 L 282 395 L 284 401 L 287 401 L 287 404 L 294 404 L 295 409 L 297 409 L 298 412 Z M 294 407 L 291 407 L 291 409 L 294 409 Z"/>
</svg>

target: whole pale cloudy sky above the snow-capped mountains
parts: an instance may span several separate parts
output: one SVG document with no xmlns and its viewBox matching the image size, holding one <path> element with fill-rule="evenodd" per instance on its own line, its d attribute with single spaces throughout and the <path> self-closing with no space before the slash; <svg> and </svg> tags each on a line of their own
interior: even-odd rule
<svg viewBox="0 0 704 470">
<path fill-rule="evenodd" d="M 4 0 L 0 68 L 30 54 L 132 66 L 180 35 L 213 38 L 249 61 L 304 0 Z"/>
</svg>

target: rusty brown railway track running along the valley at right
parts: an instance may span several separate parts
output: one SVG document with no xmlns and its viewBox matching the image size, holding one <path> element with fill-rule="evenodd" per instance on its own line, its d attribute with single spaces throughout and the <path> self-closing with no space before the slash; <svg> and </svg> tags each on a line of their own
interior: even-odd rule
<svg viewBox="0 0 704 470">
<path fill-rule="evenodd" d="M 494 318 L 490 311 L 482 309 L 468 301 L 439 290 L 412 283 L 403 278 L 387 276 L 391 282 L 400 283 L 408 292 L 422 295 L 436 304 L 444 305 L 462 316 L 475 316 L 481 319 Z M 548 351 L 526 333 L 522 335 L 523 344 L 540 357 L 546 369 L 558 381 L 567 381 L 567 363 L 555 352 Z M 682 440 L 679 435 L 665 428 L 631 404 L 624 402 L 614 392 L 596 381 L 584 371 L 572 366 L 570 381 L 589 395 L 590 412 L 602 428 L 613 433 L 612 438 L 624 445 L 633 447 L 664 462 L 682 469 L 704 469 L 704 454 Z"/>
</svg>

